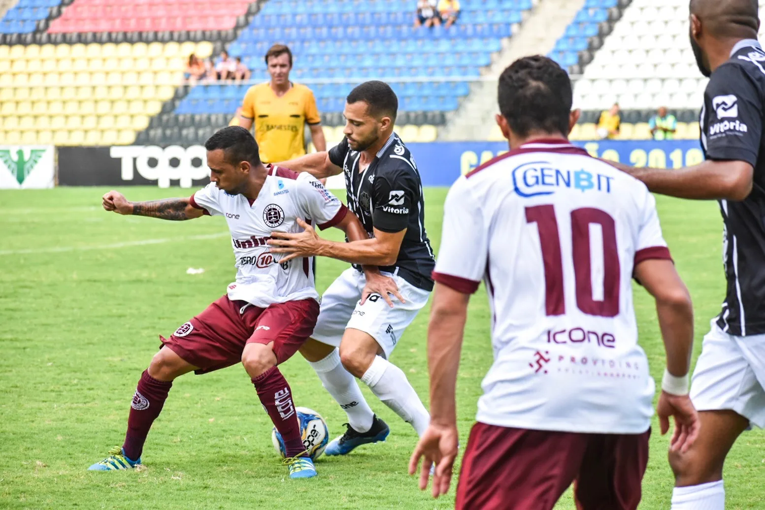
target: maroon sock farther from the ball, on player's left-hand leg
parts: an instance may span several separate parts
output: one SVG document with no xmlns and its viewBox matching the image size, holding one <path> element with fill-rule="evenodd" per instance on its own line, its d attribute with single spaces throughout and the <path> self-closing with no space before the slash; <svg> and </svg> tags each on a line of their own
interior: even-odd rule
<svg viewBox="0 0 765 510">
<path fill-rule="evenodd" d="M 142 373 L 130 404 L 128 432 L 125 434 L 125 444 L 122 445 L 122 450 L 125 450 L 125 455 L 130 460 L 138 460 L 141 456 L 148 430 L 162 411 L 172 386 L 172 382 L 158 381 L 151 377 L 148 370 Z"/>
</svg>

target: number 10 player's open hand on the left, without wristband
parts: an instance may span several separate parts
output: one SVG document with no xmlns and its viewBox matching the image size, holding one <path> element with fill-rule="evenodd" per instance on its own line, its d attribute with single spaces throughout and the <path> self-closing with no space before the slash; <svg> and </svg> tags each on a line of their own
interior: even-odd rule
<svg viewBox="0 0 765 510">
<path fill-rule="evenodd" d="M 420 489 L 428 488 L 431 466 L 435 465 L 433 475 L 433 497 L 438 498 L 449 492 L 451 484 L 451 472 L 454 468 L 454 460 L 457 459 L 459 437 L 457 436 L 457 424 L 435 424 L 433 421 L 428 425 L 425 434 L 420 437 L 412 459 L 409 460 L 409 474 L 417 472 L 417 465 L 422 460 L 420 471 Z"/>
</svg>

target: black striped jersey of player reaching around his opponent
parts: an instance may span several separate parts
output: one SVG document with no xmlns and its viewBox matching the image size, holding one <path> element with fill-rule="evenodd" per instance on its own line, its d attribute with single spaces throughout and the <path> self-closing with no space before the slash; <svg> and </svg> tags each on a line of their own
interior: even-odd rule
<svg viewBox="0 0 765 510">
<path fill-rule="evenodd" d="M 406 229 L 396 265 L 380 271 L 399 274 L 415 287 L 433 289 L 431 272 L 435 267 L 433 249 L 425 232 L 425 197 L 422 180 L 409 153 L 396 133 L 377 152 L 363 171 L 361 153 L 353 151 L 343 138 L 329 151 L 330 161 L 343 168 L 348 208 L 359 217 L 369 236 L 374 229 L 401 232 Z M 354 265 L 360 270 L 360 266 Z"/>
</svg>

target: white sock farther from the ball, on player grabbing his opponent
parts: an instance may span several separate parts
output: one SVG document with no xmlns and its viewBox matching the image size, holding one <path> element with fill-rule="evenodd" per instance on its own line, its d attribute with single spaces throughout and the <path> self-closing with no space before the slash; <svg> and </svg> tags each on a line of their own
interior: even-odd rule
<svg viewBox="0 0 765 510">
<path fill-rule="evenodd" d="M 406 380 L 402 369 L 381 356 L 375 356 L 361 382 L 369 386 L 377 398 L 402 417 L 403 421 L 415 427 L 418 436 L 425 434 L 430 414 L 422 405 L 415 388 Z"/>
</svg>

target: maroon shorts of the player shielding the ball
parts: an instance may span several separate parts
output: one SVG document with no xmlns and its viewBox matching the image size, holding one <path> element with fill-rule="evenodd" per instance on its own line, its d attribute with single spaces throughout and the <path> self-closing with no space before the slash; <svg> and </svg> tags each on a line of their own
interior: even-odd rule
<svg viewBox="0 0 765 510">
<path fill-rule="evenodd" d="M 251 342 L 273 342 L 277 363 L 285 362 L 314 332 L 318 317 L 319 304 L 313 299 L 259 308 L 223 296 L 170 338 L 159 338 L 203 374 L 241 362 L 244 346 Z"/>
</svg>

